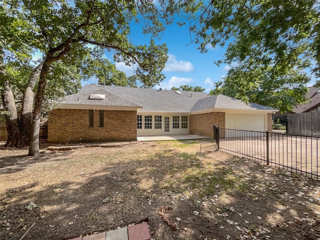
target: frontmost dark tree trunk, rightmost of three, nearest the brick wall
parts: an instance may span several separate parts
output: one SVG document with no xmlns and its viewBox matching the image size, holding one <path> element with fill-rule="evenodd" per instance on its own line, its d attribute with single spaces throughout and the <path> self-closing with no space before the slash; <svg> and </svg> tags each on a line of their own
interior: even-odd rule
<svg viewBox="0 0 320 240">
<path fill-rule="evenodd" d="M 40 131 L 40 118 L 41 118 L 41 106 L 44 99 L 44 90 L 46 84 L 46 75 L 52 62 L 52 56 L 47 55 L 40 72 L 40 79 L 38 84 L 38 90 L 34 99 L 33 118 L 31 125 L 31 137 L 29 144 L 29 156 L 39 154 L 39 131 Z"/>
</svg>

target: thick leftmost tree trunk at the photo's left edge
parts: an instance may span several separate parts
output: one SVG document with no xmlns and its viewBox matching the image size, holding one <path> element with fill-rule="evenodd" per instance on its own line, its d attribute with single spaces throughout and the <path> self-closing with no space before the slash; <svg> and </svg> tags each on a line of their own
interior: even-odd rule
<svg viewBox="0 0 320 240">
<path fill-rule="evenodd" d="M 1 83 L 3 84 L 3 90 L 1 91 L 2 105 L 4 110 L 9 112 L 9 114 L 4 115 L 8 134 L 4 146 L 17 146 L 19 143 L 19 123 L 12 89 L 7 79 L 1 81 Z"/>
</svg>

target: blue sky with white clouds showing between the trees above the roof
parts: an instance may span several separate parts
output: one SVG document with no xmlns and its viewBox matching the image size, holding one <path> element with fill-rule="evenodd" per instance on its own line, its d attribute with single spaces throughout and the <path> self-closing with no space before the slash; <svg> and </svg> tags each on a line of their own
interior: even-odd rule
<svg viewBox="0 0 320 240">
<path fill-rule="evenodd" d="M 149 37 L 144 36 L 140 26 L 131 25 L 130 39 L 135 44 L 145 44 L 149 41 Z M 166 30 L 160 35 L 160 39 L 156 39 L 156 43 L 166 43 L 168 47 L 168 60 L 162 73 L 166 76 L 160 85 L 154 88 L 171 89 L 172 86 L 180 85 L 201 86 L 205 88 L 205 92 L 209 92 L 214 88 L 214 82 L 219 81 L 225 76 L 229 65 L 221 64 L 216 66 L 213 61 L 221 59 L 225 48 L 216 46 L 207 47 L 208 52 L 200 53 L 197 45 L 191 42 L 188 31 L 188 25 L 178 26 L 175 23 L 166 26 Z M 106 52 L 112 62 L 112 51 Z M 113 62 L 118 70 L 124 71 L 126 76 L 134 74 L 134 66 L 126 66 L 123 62 Z M 236 63 L 233 63 L 236 65 Z M 309 73 L 309 71 L 307 71 Z M 311 81 L 307 86 L 311 86 L 315 81 L 315 77 L 311 76 Z M 82 81 L 83 84 L 96 83 L 97 79 L 90 78 Z"/>
</svg>

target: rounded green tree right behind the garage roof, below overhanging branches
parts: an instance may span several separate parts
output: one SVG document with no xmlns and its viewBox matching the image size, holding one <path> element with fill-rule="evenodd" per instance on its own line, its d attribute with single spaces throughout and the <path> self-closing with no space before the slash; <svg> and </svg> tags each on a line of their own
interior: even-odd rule
<svg viewBox="0 0 320 240">
<path fill-rule="evenodd" d="M 297 71 L 290 71 L 276 79 L 270 76 L 271 71 L 259 69 L 244 71 L 241 67 L 229 70 L 223 81 L 215 83 L 210 95 L 223 94 L 240 98 L 245 102 L 254 102 L 279 109 L 292 111 L 295 105 L 305 102 L 309 78 Z"/>
</svg>

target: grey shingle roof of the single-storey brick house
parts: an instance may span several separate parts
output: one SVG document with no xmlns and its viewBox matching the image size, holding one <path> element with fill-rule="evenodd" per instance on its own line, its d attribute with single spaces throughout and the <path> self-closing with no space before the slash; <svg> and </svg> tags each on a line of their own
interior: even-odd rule
<svg viewBox="0 0 320 240">
<path fill-rule="evenodd" d="M 225 95 L 209 96 L 205 92 L 156 90 L 150 88 L 109 86 L 109 85 L 84 85 L 79 93 L 66 96 L 63 104 L 106 104 L 118 106 L 142 107 L 141 111 L 156 112 L 198 112 L 214 108 L 237 110 L 266 110 L 274 111 L 275 108 L 244 103 L 239 99 Z M 105 100 L 88 99 L 90 94 L 105 94 Z M 80 102 L 77 100 L 80 98 Z M 83 99 L 83 100 L 82 100 Z"/>
</svg>

